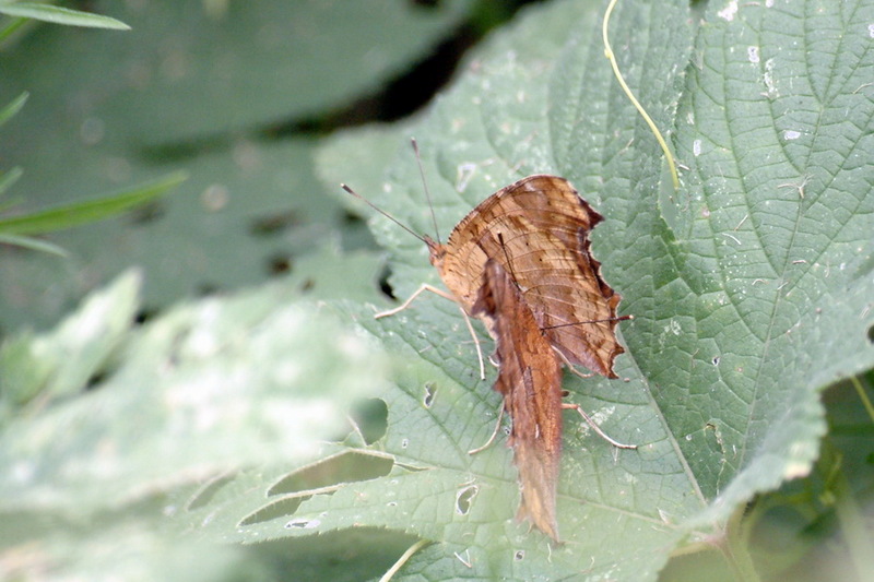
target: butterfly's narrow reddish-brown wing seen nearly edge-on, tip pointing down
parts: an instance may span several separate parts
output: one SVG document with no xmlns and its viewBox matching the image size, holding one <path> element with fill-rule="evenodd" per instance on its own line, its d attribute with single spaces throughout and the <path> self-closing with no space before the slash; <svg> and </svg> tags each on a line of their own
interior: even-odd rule
<svg viewBox="0 0 874 582">
<path fill-rule="evenodd" d="M 521 500 L 517 520 L 528 519 L 558 541 L 555 489 L 562 455 L 562 363 L 538 325 L 513 280 L 499 262 L 485 263 L 471 313 L 496 338 L 498 378 L 512 418 L 507 444 L 513 449 Z"/>
</svg>

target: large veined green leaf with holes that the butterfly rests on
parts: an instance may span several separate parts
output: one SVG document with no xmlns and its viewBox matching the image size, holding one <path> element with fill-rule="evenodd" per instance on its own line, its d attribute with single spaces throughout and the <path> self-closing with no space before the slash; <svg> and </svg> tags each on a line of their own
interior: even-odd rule
<svg viewBox="0 0 874 582">
<path fill-rule="evenodd" d="M 276 494 L 274 512 L 228 490 L 225 511 L 249 508 L 249 519 L 226 522 L 239 524 L 238 539 L 399 530 L 436 542 L 403 569 L 410 580 L 652 580 L 683 545 L 731 543 L 727 522 L 739 507 L 811 470 L 825 431 L 819 391 L 874 365 L 874 62 L 864 24 L 873 10 L 861 0 L 713 7 L 693 50 L 682 2 L 621 3 L 613 47 L 672 138 L 685 168 L 676 192 L 603 60 L 595 7 L 558 2 L 496 35 L 414 130 L 437 222 L 448 229 L 533 171 L 570 178 L 607 217 L 593 250 L 622 311 L 635 314 L 622 325 L 625 380 L 568 377 L 565 388 L 604 430 L 640 448 L 616 451 L 567 417 L 565 544 L 554 547 L 512 520 L 510 451 L 465 452 L 487 438 L 499 397 L 494 371 L 479 381 L 457 308 L 422 298 L 377 322 L 371 309 L 353 309 L 408 361 L 383 396 L 386 438 L 367 451 L 388 454 L 391 472 L 339 482 L 331 495 Z M 362 193 L 430 233 L 411 154 L 385 188 Z M 374 230 L 392 250 L 399 297 L 438 282 L 418 241 L 383 217 Z M 295 503 L 282 510 L 281 499 Z"/>
</svg>

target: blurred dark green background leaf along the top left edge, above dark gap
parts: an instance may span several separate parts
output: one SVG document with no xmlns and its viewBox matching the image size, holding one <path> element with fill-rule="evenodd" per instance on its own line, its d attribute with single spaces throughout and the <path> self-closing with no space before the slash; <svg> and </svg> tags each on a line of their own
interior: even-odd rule
<svg viewBox="0 0 874 582">
<path fill-rule="evenodd" d="M 0 97 L 24 90 L 42 95 L 29 112 L 34 120 L 67 112 L 48 134 L 19 144 L 16 163 L 39 151 L 45 155 L 39 144 L 51 143 L 49 135 L 62 138 L 59 147 L 79 138 L 84 121 L 104 126 L 103 150 L 180 145 L 318 120 L 427 56 L 468 15 L 471 2 L 229 2 L 221 14 L 202 4 L 156 0 L 143 10 L 99 0 L 95 10 L 129 23 L 130 34 L 96 41 L 56 27 L 17 45 L 4 58 Z M 87 105 L 64 109 L 66 95 L 80 93 Z"/>
</svg>

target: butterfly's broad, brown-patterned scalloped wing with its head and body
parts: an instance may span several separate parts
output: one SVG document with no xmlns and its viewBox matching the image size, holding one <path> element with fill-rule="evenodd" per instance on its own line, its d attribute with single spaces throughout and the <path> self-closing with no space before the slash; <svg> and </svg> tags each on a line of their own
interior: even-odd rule
<svg viewBox="0 0 874 582">
<path fill-rule="evenodd" d="M 425 290 L 454 300 L 471 316 L 485 263 L 494 259 L 510 273 L 540 329 L 567 363 L 616 378 L 613 363 L 625 349 L 615 330 L 626 318 L 616 317 L 622 298 L 601 277 L 601 263 L 589 250 L 589 233 L 601 221 L 566 179 L 544 174 L 522 178 L 473 209 L 445 245 L 416 235 L 428 246 L 449 294 L 425 284 L 377 317 L 405 309 Z M 480 360 L 484 376 L 482 355 Z"/>
</svg>

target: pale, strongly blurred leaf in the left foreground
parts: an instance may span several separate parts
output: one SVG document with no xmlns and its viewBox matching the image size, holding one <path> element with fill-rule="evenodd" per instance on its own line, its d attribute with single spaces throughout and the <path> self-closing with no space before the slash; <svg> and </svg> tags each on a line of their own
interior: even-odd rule
<svg viewBox="0 0 874 582">
<path fill-rule="evenodd" d="M 388 371 L 373 340 L 302 300 L 293 278 L 142 326 L 139 285 L 126 274 L 57 330 L 0 348 L 0 460 L 27 467 L 0 476 L 0 513 L 95 514 L 309 459 Z"/>
</svg>

